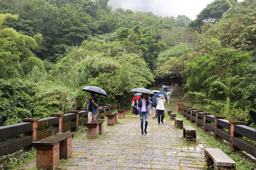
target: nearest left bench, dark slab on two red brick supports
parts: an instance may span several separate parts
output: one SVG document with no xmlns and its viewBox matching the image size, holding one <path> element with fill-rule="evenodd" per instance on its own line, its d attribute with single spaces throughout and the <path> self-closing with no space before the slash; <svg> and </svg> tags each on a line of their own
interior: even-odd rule
<svg viewBox="0 0 256 170">
<path fill-rule="evenodd" d="M 53 170 L 60 159 L 69 159 L 72 154 L 72 138 L 75 132 L 57 133 L 32 142 L 36 149 L 36 166 L 38 169 Z"/>
</svg>

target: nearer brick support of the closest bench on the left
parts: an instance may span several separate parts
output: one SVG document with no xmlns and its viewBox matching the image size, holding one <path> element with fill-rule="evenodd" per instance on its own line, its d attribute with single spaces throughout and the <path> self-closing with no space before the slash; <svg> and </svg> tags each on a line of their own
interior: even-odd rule
<svg viewBox="0 0 256 170">
<path fill-rule="evenodd" d="M 60 143 L 53 145 L 34 145 L 38 169 L 53 170 L 60 163 Z"/>
</svg>

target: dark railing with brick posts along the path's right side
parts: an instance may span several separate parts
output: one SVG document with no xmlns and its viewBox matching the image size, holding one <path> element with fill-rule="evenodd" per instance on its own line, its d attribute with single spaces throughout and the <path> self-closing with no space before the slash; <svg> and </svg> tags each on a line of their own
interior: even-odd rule
<svg viewBox="0 0 256 170">
<path fill-rule="evenodd" d="M 230 143 L 231 149 L 239 148 L 256 157 L 256 144 L 244 139 L 256 141 L 256 130 L 245 125 L 243 121 L 228 121 L 223 116 L 213 116 L 212 113 L 187 107 L 183 104 L 177 105 L 177 112 L 181 113 L 196 126 L 203 127 L 204 131 L 214 133 L 214 138 L 222 138 Z"/>
</svg>

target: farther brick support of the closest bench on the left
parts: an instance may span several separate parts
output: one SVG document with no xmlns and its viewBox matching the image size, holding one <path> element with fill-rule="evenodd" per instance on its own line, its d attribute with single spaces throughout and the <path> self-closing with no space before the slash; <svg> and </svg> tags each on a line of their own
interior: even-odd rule
<svg viewBox="0 0 256 170">
<path fill-rule="evenodd" d="M 65 140 L 60 141 L 60 159 L 69 159 L 72 155 L 72 138 L 69 136 Z"/>
</svg>

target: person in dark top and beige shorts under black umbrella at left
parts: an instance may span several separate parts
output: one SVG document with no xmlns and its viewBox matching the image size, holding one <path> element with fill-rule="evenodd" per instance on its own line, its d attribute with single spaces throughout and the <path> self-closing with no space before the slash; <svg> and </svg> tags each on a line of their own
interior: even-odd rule
<svg viewBox="0 0 256 170">
<path fill-rule="evenodd" d="M 94 94 L 91 93 L 90 99 L 87 104 L 88 122 L 97 120 L 99 101 L 94 98 Z"/>
</svg>

